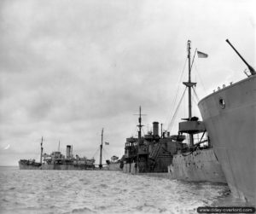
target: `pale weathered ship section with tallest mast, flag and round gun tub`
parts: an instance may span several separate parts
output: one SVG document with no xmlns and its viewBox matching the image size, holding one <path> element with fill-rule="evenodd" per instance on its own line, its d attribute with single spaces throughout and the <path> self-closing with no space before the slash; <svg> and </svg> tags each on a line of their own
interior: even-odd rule
<svg viewBox="0 0 256 214">
<path fill-rule="evenodd" d="M 183 95 L 188 89 L 189 115 L 187 119 L 183 119 L 183 121 L 178 124 L 178 136 L 184 134 L 189 136 L 189 145 L 188 147 L 178 150 L 177 153 L 173 155 L 172 164 L 169 165 L 168 172 L 170 178 L 176 180 L 226 183 L 224 171 L 214 153 L 212 142 L 207 136 L 205 124 L 203 121 L 200 121 L 198 117 L 192 115 L 191 92 L 192 90 L 195 92 L 196 83 L 191 81 L 191 71 L 195 55 L 192 63 L 190 63 L 190 44 L 191 41 L 188 41 L 189 80 L 183 82 L 186 86 Z M 197 51 L 197 49 L 195 49 L 195 53 L 200 53 L 203 57 L 207 57 L 206 54 Z M 183 97 L 181 101 L 182 99 Z M 179 101 L 179 103 L 181 101 Z M 177 105 L 177 108 L 178 107 L 179 105 Z M 197 142 L 195 142 L 195 135 L 201 136 Z"/>
</svg>

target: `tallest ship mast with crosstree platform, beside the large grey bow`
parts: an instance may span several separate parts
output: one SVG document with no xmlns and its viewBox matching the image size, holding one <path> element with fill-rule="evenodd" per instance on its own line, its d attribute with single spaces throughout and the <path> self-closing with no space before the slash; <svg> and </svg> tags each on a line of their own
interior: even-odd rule
<svg viewBox="0 0 256 214">
<path fill-rule="evenodd" d="M 188 59 L 189 59 L 189 81 L 188 82 L 183 82 L 186 87 L 189 88 L 189 121 L 191 120 L 192 117 L 192 102 L 191 102 L 191 89 L 195 86 L 196 83 L 191 82 L 191 57 L 190 57 L 190 43 L 191 41 L 188 41 Z M 194 145 L 194 138 L 193 134 L 189 134 L 189 146 Z"/>
</svg>

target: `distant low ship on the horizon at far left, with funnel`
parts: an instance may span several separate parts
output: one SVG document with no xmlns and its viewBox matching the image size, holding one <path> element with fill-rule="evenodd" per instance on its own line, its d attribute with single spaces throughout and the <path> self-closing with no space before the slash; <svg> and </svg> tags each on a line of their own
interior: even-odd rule
<svg viewBox="0 0 256 214">
<path fill-rule="evenodd" d="M 78 154 L 73 156 L 73 146 L 67 145 L 66 156 L 60 152 L 60 142 L 58 151 L 50 154 L 43 154 L 43 137 L 41 141 L 40 162 L 35 159 L 20 159 L 20 170 L 93 170 L 95 169 L 95 159 L 87 159 L 79 157 Z M 43 162 L 44 159 L 44 162 Z"/>
</svg>

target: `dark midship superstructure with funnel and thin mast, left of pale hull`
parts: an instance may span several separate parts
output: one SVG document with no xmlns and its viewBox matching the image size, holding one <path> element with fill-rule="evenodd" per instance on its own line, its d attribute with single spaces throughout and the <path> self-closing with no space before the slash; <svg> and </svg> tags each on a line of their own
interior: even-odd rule
<svg viewBox="0 0 256 214">
<path fill-rule="evenodd" d="M 178 149 L 186 147 L 184 136 L 170 136 L 159 129 L 159 122 L 153 122 L 153 131 L 142 136 L 142 113 L 139 107 L 137 137 L 126 138 L 123 171 L 125 173 L 164 173 L 168 176 L 168 165 Z"/>
</svg>

